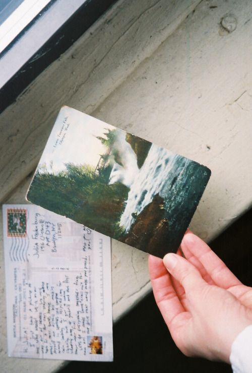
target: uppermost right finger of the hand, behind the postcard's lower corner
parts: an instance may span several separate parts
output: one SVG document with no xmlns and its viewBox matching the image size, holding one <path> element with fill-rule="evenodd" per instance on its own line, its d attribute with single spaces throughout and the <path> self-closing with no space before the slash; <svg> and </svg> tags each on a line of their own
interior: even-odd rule
<svg viewBox="0 0 252 373">
<path fill-rule="evenodd" d="M 223 261 L 210 249 L 210 247 L 192 232 L 187 231 L 184 235 L 181 242 L 181 249 L 186 258 L 188 256 L 190 261 L 195 261 L 194 264 L 196 266 L 197 263 L 198 266 L 200 265 L 199 263 L 203 265 L 206 272 L 217 286 L 228 289 L 231 286 L 241 284 L 237 277 L 235 277 Z M 200 267 L 199 270 L 209 282 L 206 274 L 204 275 L 204 269 Z"/>
</svg>

